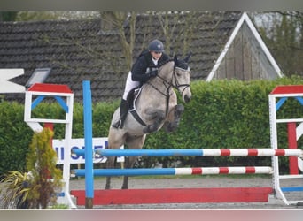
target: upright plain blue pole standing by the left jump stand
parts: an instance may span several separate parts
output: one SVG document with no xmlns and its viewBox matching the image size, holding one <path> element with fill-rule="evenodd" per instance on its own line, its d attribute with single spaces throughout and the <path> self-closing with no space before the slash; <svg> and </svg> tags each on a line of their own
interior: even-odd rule
<svg viewBox="0 0 303 221">
<path fill-rule="evenodd" d="M 91 91 L 89 80 L 82 82 L 83 87 L 83 117 L 84 117 L 84 142 L 85 142 L 85 208 L 93 208 L 94 198 L 94 172 L 92 149 L 92 110 Z"/>
</svg>

